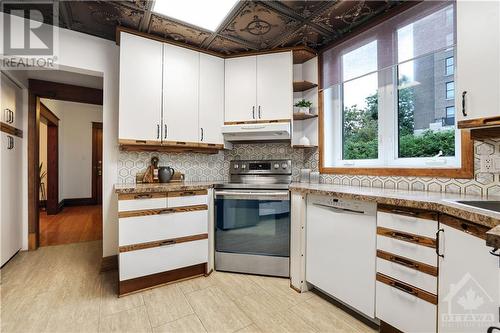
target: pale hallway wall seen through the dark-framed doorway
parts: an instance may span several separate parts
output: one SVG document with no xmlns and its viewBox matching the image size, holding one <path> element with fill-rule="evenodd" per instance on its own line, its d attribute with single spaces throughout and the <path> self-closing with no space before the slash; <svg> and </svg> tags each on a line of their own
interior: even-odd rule
<svg viewBox="0 0 500 333">
<path fill-rule="evenodd" d="M 59 201 L 92 196 L 92 122 L 102 106 L 42 98 L 59 118 Z"/>
</svg>

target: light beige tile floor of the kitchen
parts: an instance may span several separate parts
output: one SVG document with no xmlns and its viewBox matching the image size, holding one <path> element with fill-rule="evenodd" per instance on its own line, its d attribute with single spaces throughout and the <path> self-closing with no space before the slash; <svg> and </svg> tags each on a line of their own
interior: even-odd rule
<svg viewBox="0 0 500 333">
<path fill-rule="evenodd" d="M 214 272 L 122 298 L 101 242 L 19 254 L 1 270 L 2 332 L 374 332 L 287 279 Z"/>
</svg>

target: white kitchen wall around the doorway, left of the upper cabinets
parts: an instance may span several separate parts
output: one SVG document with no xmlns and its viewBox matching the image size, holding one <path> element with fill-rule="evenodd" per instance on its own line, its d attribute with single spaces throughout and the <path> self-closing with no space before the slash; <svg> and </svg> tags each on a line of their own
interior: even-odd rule
<svg viewBox="0 0 500 333">
<path fill-rule="evenodd" d="M 7 14 L 1 13 L 0 26 Z M 37 24 L 35 22 L 33 25 Z M 119 82 L 119 48 L 108 40 L 85 35 L 82 33 L 58 29 L 59 53 L 57 65 L 59 69 L 102 76 L 104 85 L 103 100 L 103 255 L 110 256 L 117 253 L 118 247 L 118 204 L 114 194 L 114 183 L 116 182 L 118 164 L 118 82 Z M 23 38 L 22 31 L 14 31 L 18 34 L 12 38 Z M 0 47 L 3 47 L 3 34 L 0 34 Z M 0 51 L 3 53 L 3 50 Z M 27 104 L 25 105 L 27 107 Z M 27 117 L 25 117 L 27 118 Z M 27 140 L 24 140 L 27 145 Z M 27 169 L 27 165 L 23 166 Z M 25 173 L 27 177 L 27 172 Z M 27 181 L 27 178 L 24 182 Z M 27 208 L 27 185 L 24 184 L 25 202 L 23 207 Z M 27 211 L 27 209 L 25 209 Z M 27 214 L 24 219 L 25 246 L 27 247 Z"/>
</svg>

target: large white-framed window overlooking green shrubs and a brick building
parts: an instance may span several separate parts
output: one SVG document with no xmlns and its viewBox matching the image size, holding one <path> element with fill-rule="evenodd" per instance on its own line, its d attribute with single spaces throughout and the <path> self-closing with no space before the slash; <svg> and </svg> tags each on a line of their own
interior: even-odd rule
<svg viewBox="0 0 500 333">
<path fill-rule="evenodd" d="M 460 166 L 454 5 L 401 17 L 324 52 L 323 169 Z"/>
</svg>

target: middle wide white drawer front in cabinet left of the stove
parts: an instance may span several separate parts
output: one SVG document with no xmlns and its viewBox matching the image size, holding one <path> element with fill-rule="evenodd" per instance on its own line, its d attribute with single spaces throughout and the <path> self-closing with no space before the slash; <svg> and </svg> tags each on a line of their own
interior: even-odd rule
<svg viewBox="0 0 500 333">
<path fill-rule="evenodd" d="M 180 212 L 119 219 L 119 246 L 208 232 L 208 211 Z"/>
</svg>

